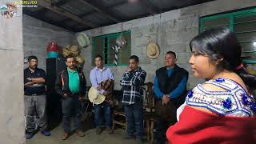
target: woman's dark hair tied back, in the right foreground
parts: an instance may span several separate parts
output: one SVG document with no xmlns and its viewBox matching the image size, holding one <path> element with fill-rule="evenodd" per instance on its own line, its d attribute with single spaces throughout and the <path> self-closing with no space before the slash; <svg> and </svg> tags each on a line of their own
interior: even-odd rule
<svg viewBox="0 0 256 144">
<path fill-rule="evenodd" d="M 197 54 L 206 54 L 211 62 L 217 62 L 217 70 L 229 70 L 237 73 L 250 90 L 256 88 L 256 75 L 249 74 L 242 64 L 242 47 L 234 33 L 226 27 L 206 30 L 190 41 L 190 50 Z"/>
</svg>

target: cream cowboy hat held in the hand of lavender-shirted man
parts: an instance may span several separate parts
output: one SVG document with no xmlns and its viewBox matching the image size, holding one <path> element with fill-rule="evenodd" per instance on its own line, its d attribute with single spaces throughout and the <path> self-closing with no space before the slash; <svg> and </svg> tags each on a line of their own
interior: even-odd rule
<svg viewBox="0 0 256 144">
<path fill-rule="evenodd" d="M 104 102 L 106 97 L 103 94 L 99 94 L 98 90 L 96 90 L 94 86 L 91 86 L 88 92 L 88 98 L 90 102 L 98 105 Z"/>
</svg>

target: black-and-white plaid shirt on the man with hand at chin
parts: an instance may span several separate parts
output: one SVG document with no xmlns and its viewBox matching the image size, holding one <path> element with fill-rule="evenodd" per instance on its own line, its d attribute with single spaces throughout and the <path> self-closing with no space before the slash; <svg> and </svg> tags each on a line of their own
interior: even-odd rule
<svg viewBox="0 0 256 144">
<path fill-rule="evenodd" d="M 123 87 L 123 97 L 122 102 L 124 104 L 134 104 L 135 102 L 140 102 L 143 100 L 142 85 L 144 84 L 146 78 L 146 71 L 138 67 L 137 70 L 132 72 L 126 71 L 121 78 L 120 85 Z"/>
</svg>

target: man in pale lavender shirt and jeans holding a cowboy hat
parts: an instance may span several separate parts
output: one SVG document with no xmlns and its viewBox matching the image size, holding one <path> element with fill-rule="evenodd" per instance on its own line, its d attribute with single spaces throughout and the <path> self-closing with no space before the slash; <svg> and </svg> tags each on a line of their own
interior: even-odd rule
<svg viewBox="0 0 256 144">
<path fill-rule="evenodd" d="M 101 55 L 95 57 L 95 65 L 94 69 L 90 70 L 91 85 L 106 97 L 105 101 L 101 104 L 94 104 L 96 134 L 102 134 L 103 118 L 105 118 L 106 122 L 106 132 L 112 134 L 111 93 L 114 88 L 114 74 L 112 74 L 110 68 L 103 66 Z M 102 83 L 109 86 L 102 86 Z M 106 90 L 103 87 L 108 87 L 108 89 Z"/>
</svg>

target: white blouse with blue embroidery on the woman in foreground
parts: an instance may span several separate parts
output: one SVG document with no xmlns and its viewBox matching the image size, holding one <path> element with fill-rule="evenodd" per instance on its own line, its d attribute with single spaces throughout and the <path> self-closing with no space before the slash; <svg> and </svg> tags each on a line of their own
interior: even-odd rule
<svg viewBox="0 0 256 144">
<path fill-rule="evenodd" d="M 223 91 L 209 91 L 202 84 L 194 87 L 186 97 L 186 102 L 178 109 L 177 115 L 182 112 L 185 105 L 204 107 L 215 114 L 237 117 L 255 116 L 255 100 L 246 93 L 237 82 L 228 78 L 217 78 L 204 84 L 221 87 Z M 178 117 L 177 117 L 178 118 Z"/>
</svg>

